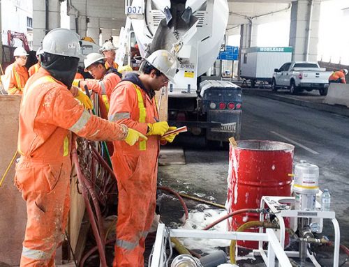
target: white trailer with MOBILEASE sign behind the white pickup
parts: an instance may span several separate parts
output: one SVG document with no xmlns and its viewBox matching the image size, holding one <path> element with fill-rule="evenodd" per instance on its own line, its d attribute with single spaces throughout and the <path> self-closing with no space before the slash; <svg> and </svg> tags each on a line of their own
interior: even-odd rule
<svg viewBox="0 0 349 267">
<path fill-rule="evenodd" d="M 274 69 L 291 61 L 292 47 L 249 47 L 242 49 L 240 77 L 256 82 L 272 83 Z"/>
</svg>

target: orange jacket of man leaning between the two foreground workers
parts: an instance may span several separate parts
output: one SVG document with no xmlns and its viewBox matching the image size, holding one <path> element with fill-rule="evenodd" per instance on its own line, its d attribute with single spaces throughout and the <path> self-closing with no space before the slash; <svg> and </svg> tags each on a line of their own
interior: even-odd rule
<svg viewBox="0 0 349 267">
<path fill-rule="evenodd" d="M 98 95 L 106 95 L 108 100 L 110 100 L 110 95 L 112 90 L 120 82 L 120 77 L 116 73 L 107 73 L 103 76 L 101 80 L 98 79 L 85 79 L 79 82 L 79 86 L 84 90 L 84 86 L 88 89 L 98 93 Z"/>
</svg>

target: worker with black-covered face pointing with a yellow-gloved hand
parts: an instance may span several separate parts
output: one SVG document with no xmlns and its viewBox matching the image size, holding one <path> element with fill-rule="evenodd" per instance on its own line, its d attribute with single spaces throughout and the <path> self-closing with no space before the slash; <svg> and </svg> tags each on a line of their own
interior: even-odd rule
<svg viewBox="0 0 349 267">
<path fill-rule="evenodd" d="M 80 55 L 79 36 L 54 29 L 43 39 L 38 73 L 30 77 L 20 106 L 15 185 L 27 202 L 20 266 L 55 266 L 70 206 L 72 132 L 91 140 L 120 140 L 127 146 L 144 137 L 126 125 L 91 115 L 91 100 L 69 89 Z M 124 141 L 121 141 L 124 140 Z"/>
</svg>

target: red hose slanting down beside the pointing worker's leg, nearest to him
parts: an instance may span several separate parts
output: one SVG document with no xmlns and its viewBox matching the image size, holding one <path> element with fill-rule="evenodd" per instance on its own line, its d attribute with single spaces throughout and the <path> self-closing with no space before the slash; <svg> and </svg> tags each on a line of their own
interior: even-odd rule
<svg viewBox="0 0 349 267">
<path fill-rule="evenodd" d="M 80 164 L 79 164 L 79 159 L 77 158 L 77 151 L 76 151 L 75 147 L 72 149 L 71 155 L 72 155 L 72 160 L 74 162 L 75 169 L 77 172 L 77 178 L 78 178 L 80 184 L 84 185 L 85 184 L 84 181 L 86 181 L 86 177 L 84 177 L 84 174 L 82 174 Z M 91 222 L 92 231 L 94 232 L 94 237 L 96 238 L 98 252 L 99 252 L 99 256 L 100 256 L 100 260 L 101 260 L 101 267 L 107 267 L 107 261 L 105 259 L 104 244 L 103 244 L 103 241 L 101 240 L 101 236 L 99 236 L 96 220 L 94 219 L 94 213 L 92 211 L 91 204 L 89 203 L 89 199 L 87 196 L 87 190 L 85 190 L 85 188 L 82 189 L 82 196 L 84 197 L 84 202 L 85 202 L 87 213 L 89 215 L 89 219 Z M 81 264 L 81 262 L 80 262 L 80 266 L 81 267 L 83 266 Z"/>
</svg>

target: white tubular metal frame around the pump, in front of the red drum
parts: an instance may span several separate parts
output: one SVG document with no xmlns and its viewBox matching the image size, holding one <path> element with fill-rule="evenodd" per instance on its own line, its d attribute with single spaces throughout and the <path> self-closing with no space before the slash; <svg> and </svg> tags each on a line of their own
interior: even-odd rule
<svg viewBox="0 0 349 267">
<path fill-rule="evenodd" d="M 281 201 L 281 202 L 280 202 Z M 341 240 L 341 234 L 339 229 L 339 223 L 336 219 L 336 213 L 334 211 L 320 211 L 320 204 L 318 201 L 316 201 L 316 210 L 315 211 L 298 211 L 298 210 L 290 210 L 282 208 L 282 203 L 290 203 L 295 202 L 295 197 L 262 197 L 262 200 L 260 201 L 260 208 L 265 208 L 265 206 L 268 206 L 270 208 L 270 213 L 274 214 L 276 218 L 279 220 L 280 225 L 280 235 L 279 235 L 279 244 L 284 249 L 285 247 L 285 222 L 283 218 L 317 218 L 317 219 L 329 219 L 332 221 L 332 224 L 334 226 L 334 259 L 333 259 L 333 266 L 337 267 L 339 266 L 339 247 L 340 247 L 340 240 Z M 260 213 L 260 222 L 263 222 L 265 218 L 265 215 Z M 267 229 L 268 230 L 268 229 Z M 269 229 L 270 230 L 270 229 Z M 273 231 L 273 230 L 272 230 Z M 263 233 L 263 229 L 260 228 L 260 233 Z M 262 249 L 263 247 L 263 241 L 258 242 L 258 250 L 253 250 L 253 254 L 258 255 L 260 254 L 263 259 L 265 259 L 265 251 Z M 288 257 L 299 257 L 299 252 L 295 251 L 286 251 L 285 252 Z M 308 257 L 313 262 L 314 266 L 319 266 L 318 262 L 315 261 L 311 255 Z M 279 264 L 279 266 L 282 266 Z"/>
</svg>

